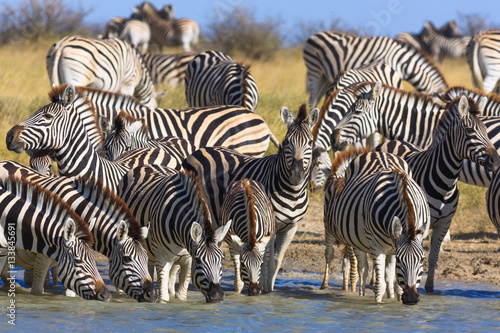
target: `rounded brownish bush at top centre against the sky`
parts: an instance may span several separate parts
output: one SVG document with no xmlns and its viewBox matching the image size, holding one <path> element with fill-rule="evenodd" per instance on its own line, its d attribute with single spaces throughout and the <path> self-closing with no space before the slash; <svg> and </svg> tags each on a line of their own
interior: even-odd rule
<svg viewBox="0 0 500 333">
<path fill-rule="evenodd" d="M 211 49 L 256 60 L 269 59 L 283 47 L 279 23 L 256 22 L 246 7 L 221 10 L 208 26 L 204 41 Z"/>
</svg>

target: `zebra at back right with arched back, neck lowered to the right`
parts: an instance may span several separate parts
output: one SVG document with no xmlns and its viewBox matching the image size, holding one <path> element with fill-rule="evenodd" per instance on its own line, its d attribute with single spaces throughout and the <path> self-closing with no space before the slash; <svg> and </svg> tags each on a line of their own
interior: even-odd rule
<svg viewBox="0 0 500 333">
<path fill-rule="evenodd" d="M 418 91 L 441 92 L 447 88 L 438 68 L 425 55 L 389 37 L 361 37 L 323 31 L 309 37 L 304 46 L 309 105 L 315 106 L 326 87 L 341 70 L 383 61 Z"/>
</svg>

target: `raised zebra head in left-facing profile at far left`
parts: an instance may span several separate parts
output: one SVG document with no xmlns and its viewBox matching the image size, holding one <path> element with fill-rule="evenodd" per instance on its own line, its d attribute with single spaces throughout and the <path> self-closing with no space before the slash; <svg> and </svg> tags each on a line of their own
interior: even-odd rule
<svg viewBox="0 0 500 333">
<path fill-rule="evenodd" d="M 16 153 L 23 150 L 56 151 L 72 138 L 82 134 L 73 125 L 75 122 L 81 122 L 75 110 L 76 104 L 92 108 L 86 96 L 77 93 L 71 84 L 66 86 L 61 97 L 54 88 L 50 95 L 52 103 L 37 110 L 7 133 L 6 143 L 9 150 Z M 95 115 L 95 110 L 92 112 Z"/>
</svg>

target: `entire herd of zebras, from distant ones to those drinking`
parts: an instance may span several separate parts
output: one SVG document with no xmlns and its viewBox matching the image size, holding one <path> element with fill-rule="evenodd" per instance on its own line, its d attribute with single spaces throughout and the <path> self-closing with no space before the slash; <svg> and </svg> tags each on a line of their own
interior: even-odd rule
<svg viewBox="0 0 500 333">
<path fill-rule="evenodd" d="M 492 46 L 499 32 L 464 39 L 452 23 L 427 23 L 425 49 L 404 38 L 316 33 L 303 50 L 311 111 L 304 104 L 294 117 L 282 107 L 287 131 L 278 142 L 258 115 L 248 66 L 215 50 L 143 55 L 134 21 L 147 23 L 158 45 L 190 51 L 198 38 L 197 25 L 176 20 L 171 6 L 144 2 L 131 19 L 112 20 L 106 39 L 67 36 L 50 48 L 50 103 L 6 136 L 9 150 L 30 155 L 31 168 L 0 162 L 2 277 L 15 248 L 17 264 L 33 270 L 33 294 L 43 293 L 54 267 L 68 295 L 108 301 L 95 250 L 108 258 L 111 282 L 137 301 L 186 299 L 192 281 L 207 302 L 220 302 L 225 241 L 235 290 L 272 292 L 310 185 L 325 189 L 321 287 L 341 243 L 362 295 L 371 255 L 377 302 L 385 293 L 419 302 L 429 230 L 425 289 L 434 290 L 459 180 L 488 187 L 500 233 L 500 98 L 489 93 L 500 78 L 500 48 Z M 465 55 L 450 53 L 456 45 L 482 90 L 448 88 L 423 53 Z M 189 108 L 158 107 L 155 85 L 171 79 L 184 81 Z M 418 92 L 403 90 L 402 80 Z M 377 146 L 381 136 L 391 141 Z M 264 156 L 270 141 L 277 153 Z M 349 148 L 359 142 L 376 147 Z"/>
</svg>

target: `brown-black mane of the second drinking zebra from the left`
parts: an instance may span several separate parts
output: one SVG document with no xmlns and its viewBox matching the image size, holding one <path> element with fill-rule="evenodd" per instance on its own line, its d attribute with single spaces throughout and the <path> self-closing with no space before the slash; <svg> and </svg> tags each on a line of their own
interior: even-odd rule
<svg viewBox="0 0 500 333">
<path fill-rule="evenodd" d="M 128 235 L 133 240 L 142 242 L 144 235 L 142 233 L 141 224 L 129 210 L 125 201 L 123 201 L 115 192 L 104 186 L 101 179 L 90 177 L 78 177 L 73 180 L 79 192 L 87 193 L 86 196 L 91 198 L 91 201 L 101 201 L 106 204 L 107 211 L 113 211 L 114 217 L 128 222 Z"/>
</svg>

